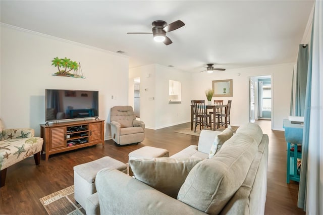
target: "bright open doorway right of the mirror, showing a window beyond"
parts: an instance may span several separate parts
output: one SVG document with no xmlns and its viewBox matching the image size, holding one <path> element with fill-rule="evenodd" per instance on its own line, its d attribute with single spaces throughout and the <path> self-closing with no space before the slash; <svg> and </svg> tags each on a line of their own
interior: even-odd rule
<svg viewBox="0 0 323 215">
<path fill-rule="evenodd" d="M 250 122 L 273 118 L 272 76 L 252 76 L 249 79 Z"/>
</svg>

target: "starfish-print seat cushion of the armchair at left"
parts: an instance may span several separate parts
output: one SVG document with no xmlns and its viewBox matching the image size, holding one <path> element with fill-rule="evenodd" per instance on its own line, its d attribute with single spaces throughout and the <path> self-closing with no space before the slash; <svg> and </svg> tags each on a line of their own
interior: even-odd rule
<svg viewBox="0 0 323 215">
<path fill-rule="evenodd" d="M 18 131 L 18 130 L 17 130 Z M 13 164 L 41 151 L 43 139 L 40 137 L 22 138 L 28 132 L 16 132 L 16 139 L 0 141 L 0 169 L 4 170 Z M 8 133 L 6 133 L 8 134 Z M 11 133 L 12 134 L 12 133 Z"/>
</svg>

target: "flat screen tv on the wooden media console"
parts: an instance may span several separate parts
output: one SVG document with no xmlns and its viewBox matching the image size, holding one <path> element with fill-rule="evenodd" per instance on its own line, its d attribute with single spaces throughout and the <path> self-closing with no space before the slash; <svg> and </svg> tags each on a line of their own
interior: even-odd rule
<svg viewBox="0 0 323 215">
<path fill-rule="evenodd" d="M 98 118 L 99 92 L 46 89 L 46 122 Z"/>
</svg>

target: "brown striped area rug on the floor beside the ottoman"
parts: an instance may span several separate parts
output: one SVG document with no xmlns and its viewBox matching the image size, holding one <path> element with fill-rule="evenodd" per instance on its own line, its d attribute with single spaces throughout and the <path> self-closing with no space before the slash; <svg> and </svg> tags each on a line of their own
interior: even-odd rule
<svg viewBox="0 0 323 215">
<path fill-rule="evenodd" d="M 49 215 L 85 215 L 84 208 L 74 199 L 74 185 L 39 199 Z"/>
</svg>

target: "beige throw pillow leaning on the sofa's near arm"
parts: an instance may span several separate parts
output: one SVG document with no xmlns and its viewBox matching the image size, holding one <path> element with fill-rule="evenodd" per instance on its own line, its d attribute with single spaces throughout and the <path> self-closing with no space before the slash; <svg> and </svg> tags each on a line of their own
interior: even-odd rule
<svg viewBox="0 0 323 215">
<path fill-rule="evenodd" d="M 129 165 L 136 179 L 177 198 L 188 173 L 201 160 L 199 157 L 156 157 L 129 160 Z"/>
</svg>

